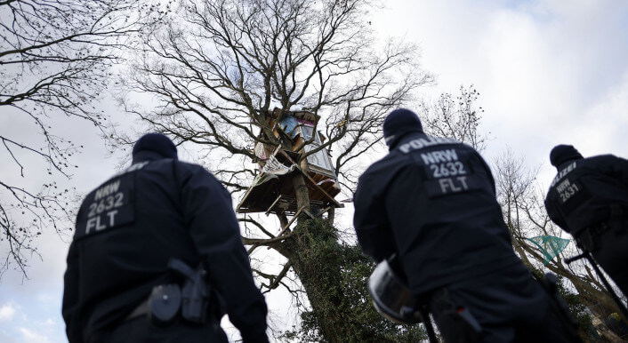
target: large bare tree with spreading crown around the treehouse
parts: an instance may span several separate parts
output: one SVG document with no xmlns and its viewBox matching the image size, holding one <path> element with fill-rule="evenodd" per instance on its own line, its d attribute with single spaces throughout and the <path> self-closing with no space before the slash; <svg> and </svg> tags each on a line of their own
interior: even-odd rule
<svg viewBox="0 0 628 343">
<path fill-rule="evenodd" d="M 143 109 L 133 104 L 132 96 L 122 103 L 148 130 L 200 148 L 208 157 L 205 166 L 237 197 L 255 177 L 247 166 L 257 158 L 255 144 L 302 151 L 313 143 L 314 135 L 291 148 L 289 138 L 276 137 L 267 121 L 273 108 L 278 108 L 278 119 L 294 110 L 320 116 L 313 130 L 326 140 L 296 156 L 294 164 L 302 168 L 308 156 L 329 150 L 334 172 L 348 191 L 357 180 L 356 170 L 364 168 L 358 156 L 382 138 L 384 116 L 415 100 L 417 88 L 431 83 L 417 63 L 415 45 L 373 39 L 367 20 L 373 8 L 368 0 L 182 2 L 172 20 L 144 37 L 124 79 L 127 94 L 148 92 L 155 107 Z M 133 142 L 121 132 L 114 137 L 114 146 Z M 292 178 L 297 207 L 307 213 L 304 174 L 296 172 Z M 312 298 L 315 278 L 326 275 L 308 274 L 307 262 L 296 258 L 308 249 L 302 244 L 310 242 L 289 228 L 301 219 L 278 214 L 274 223 L 255 215 L 240 220 L 251 253 L 268 247 L 286 261 L 277 271 L 255 268 L 262 289 L 288 287 L 286 279 L 295 272 L 313 307 L 326 301 Z"/>
</svg>

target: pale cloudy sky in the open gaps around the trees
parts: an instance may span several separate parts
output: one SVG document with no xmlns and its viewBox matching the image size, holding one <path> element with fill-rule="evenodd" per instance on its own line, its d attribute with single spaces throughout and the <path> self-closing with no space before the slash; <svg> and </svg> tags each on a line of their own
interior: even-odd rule
<svg viewBox="0 0 628 343">
<path fill-rule="evenodd" d="M 423 67 L 438 81 L 426 95 L 475 86 L 489 164 L 510 148 L 540 166 L 538 180 L 548 185 L 557 144 L 573 144 L 584 156 L 628 157 L 628 3 L 389 0 L 372 25 L 420 44 Z M 112 104 L 100 106 L 116 118 Z M 0 119 L 3 126 L 20 130 Z M 85 145 L 69 184 L 86 194 L 115 172 L 117 158 L 88 124 L 72 122 L 62 132 Z M 350 218 L 350 204 L 342 211 Z M 30 260 L 28 280 L 12 270 L 0 280 L 0 341 L 67 341 L 60 301 L 68 239 L 48 232 L 38 244 L 42 259 Z M 278 298 L 267 298 L 270 309 L 285 312 Z"/>
</svg>

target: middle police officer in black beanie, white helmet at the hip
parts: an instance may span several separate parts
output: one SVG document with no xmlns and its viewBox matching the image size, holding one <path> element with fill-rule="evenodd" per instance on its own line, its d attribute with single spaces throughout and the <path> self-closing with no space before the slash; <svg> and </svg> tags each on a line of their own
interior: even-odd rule
<svg viewBox="0 0 628 343">
<path fill-rule="evenodd" d="M 366 255 L 397 254 L 447 342 L 577 341 L 511 247 L 481 156 L 423 133 L 399 108 L 383 123 L 388 156 L 358 179 L 354 226 Z"/>
</svg>

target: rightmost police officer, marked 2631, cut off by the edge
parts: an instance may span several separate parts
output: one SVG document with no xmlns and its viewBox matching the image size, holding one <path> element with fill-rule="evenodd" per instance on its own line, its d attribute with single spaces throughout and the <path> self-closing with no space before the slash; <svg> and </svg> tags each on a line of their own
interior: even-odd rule
<svg viewBox="0 0 628 343">
<path fill-rule="evenodd" d="M 545 198 L 550 219 L 628 295 L 628 161 L 583 158 L 570 145 L 552 148 L 550 161 L 558 171 Z"/>
</svg>

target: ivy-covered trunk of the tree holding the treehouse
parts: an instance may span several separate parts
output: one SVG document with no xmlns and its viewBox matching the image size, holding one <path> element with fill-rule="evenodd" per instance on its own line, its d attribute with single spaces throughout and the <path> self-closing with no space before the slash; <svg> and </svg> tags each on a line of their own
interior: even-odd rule
<svg viewBox="0 0 628 343">
<path fill-rule="evenodd" d="M 303 220 L 290 237 L 290 250 L 294 251 L 290 263 L 310 300 L 311 310 L 303 317 L 304 331 L 316 333 L 314 337 L 308 335 L 308 339 L 327 343 L 399 341 L 399 332 L 386 331 L 385 324 L 374 328 L 382 318 L 374 314 L 370 302 L 365 309 L 358 304 L 364 298 L 350 298 L 351 289 L 347 287 L 351 283 L 347 278 L 351 276 L 343 269 L 351 266 L 347 262 L 350 251 L 342 248 L 337 237 L 337 229 L 325 219 Z M 366 287 L 362 284 L 364 279 L 359 280 L 358 284 Z M 369 311 L 373 314 L 368 315 Z M 376 318 L 375 323 L 364 323 L 368 318 Z"/>
</svg>

